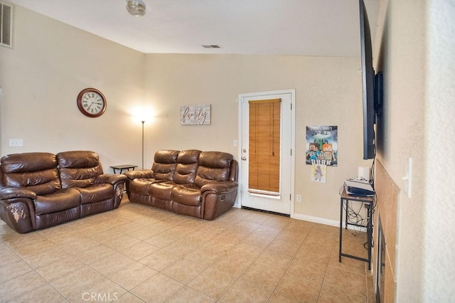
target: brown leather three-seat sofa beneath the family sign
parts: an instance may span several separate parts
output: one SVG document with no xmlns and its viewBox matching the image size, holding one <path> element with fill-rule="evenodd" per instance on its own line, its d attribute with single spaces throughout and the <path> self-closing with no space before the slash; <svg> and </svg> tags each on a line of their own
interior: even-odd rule
<svg viewBox="0 0 455 303">
<path fill-rule="evenodd" d="M 129 201 L 213 220 L 234 206 L 238 164 L 220 151 L 156 151 L 151 169 L 127 171 Z"/>
</svg>

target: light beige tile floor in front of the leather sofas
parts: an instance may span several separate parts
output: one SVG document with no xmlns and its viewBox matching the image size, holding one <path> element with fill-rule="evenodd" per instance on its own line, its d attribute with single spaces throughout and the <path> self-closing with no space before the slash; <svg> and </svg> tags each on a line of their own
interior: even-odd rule
<svg viewBox="0 0 455 303">
<path fill-rule="evenodd" d="M 365 233 L 343 252 L 365 257 Z M 0 223 L 0 302 L 375 302 L 338 228 L 232 208 L 213 221 L 130 203 L 19 234 Z"/>
</svg>

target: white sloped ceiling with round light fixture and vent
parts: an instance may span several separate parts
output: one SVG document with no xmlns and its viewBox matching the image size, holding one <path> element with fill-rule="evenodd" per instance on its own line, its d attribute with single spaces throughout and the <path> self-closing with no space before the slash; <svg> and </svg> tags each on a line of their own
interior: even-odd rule
<svg viewBox="0 0 455 303">
<path fill-rule="evenodd" d="M 360 57 L 358 0 L 143 1 L 134 17 L 125 0 L 9 0 L 142 53 Z M 364 1 L 374 37 L 379 0 Z"/>
</svg>

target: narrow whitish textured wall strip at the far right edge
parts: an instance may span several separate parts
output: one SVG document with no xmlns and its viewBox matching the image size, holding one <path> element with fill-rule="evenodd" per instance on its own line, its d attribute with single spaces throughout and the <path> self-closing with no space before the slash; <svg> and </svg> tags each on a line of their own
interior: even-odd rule
<svg viewBox="0 0 455 303">
<path fill-rule="evenodd" d="M 429 1 L 426 18 L 424 300 L 451 302 L 455 297 L 454 1 Z"/>
</svg>

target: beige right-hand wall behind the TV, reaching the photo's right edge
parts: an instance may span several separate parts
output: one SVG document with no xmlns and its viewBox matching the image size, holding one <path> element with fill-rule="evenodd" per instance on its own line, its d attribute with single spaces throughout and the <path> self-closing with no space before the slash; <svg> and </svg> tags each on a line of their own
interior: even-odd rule
<svg viewBox="0 0 455 303">
<path fill-rule="evenodd" d="M 455 7 L 438 0 L 382 0 L 381 6 L 375 48 L 385 100 L 378 159 L 399 187 L 395 302 L 451 302 L 455 190 L 447 152 L 453 154 L 455 132 Z M 402 179 L 408 158 L 411 196 Z"/>
</svg>

